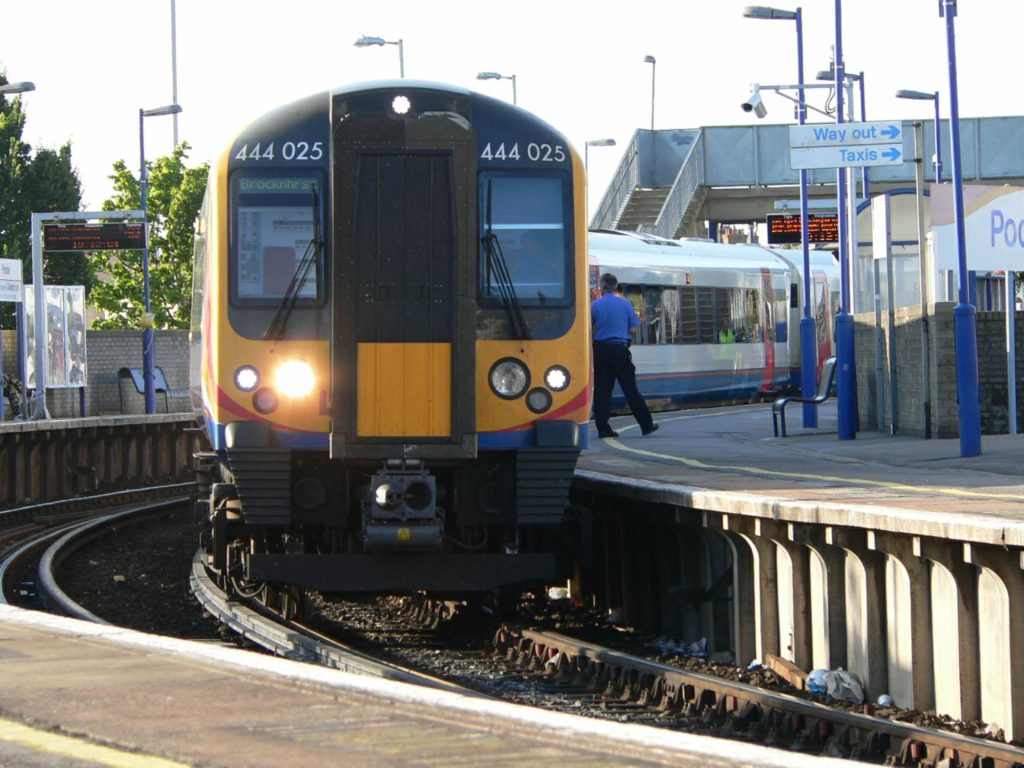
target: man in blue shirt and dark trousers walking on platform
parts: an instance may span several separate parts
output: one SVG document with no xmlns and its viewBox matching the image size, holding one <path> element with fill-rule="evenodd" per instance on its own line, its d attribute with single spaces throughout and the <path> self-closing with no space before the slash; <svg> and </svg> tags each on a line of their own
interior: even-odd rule
<svg viewBox="0 0 1024 768">
<path fill-rule="evenodd" d="M 598 437 L 617 437 L 608 424 L 611 390 L 615 381 L 623 388 L 633 417 L 647 435 L 657 429 L 643 395 L 637 389 L 636 368 L 630 354 L 630 330 L 640 326 L 633 304 L 615 295 L 618 281 L 614 274 L 601 275 L 601 298 L 590 305 L 594 324 L 594 423 Z"/>
</svg>

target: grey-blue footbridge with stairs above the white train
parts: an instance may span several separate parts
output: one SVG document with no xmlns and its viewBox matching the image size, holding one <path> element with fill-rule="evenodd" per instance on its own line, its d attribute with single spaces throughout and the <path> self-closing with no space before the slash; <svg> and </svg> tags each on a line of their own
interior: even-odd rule
<svg viewBox="0 0 1024 768">
<path fill-rule="evenodd" d="M 924 156 L 935 152 L 933 121 L 924 126 Z M 869 169 L 872 194 L 914 182 L 913 121 L 903 126 L 908 162 Z M 950 157 L 942 121 L 942 157 Z M 775 202 L 799 210 L 800 173 L 790 168 L 788 124 L 647 130 L 634 134 L 592 220 L 592 228 L 645 231 L 665 238 L 708 237 L 709 225 L 764 221 Z M 1024 185 L 1024 117 L 961 120 L 964 180 Z M 858 173 L 859 176 L 859 173 Z M 926 181 L 935 169 L 926 163 Z M 835 200 L 836 173 L 808 171 L 809 198 Z"/>
</svg>

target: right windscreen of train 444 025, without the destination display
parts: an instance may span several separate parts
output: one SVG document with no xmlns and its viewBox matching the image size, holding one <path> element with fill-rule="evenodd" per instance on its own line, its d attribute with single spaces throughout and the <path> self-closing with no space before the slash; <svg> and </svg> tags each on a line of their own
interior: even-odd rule
<svg viewBox="0 0 1024 768">
<path fill-rule="evenodd" d="M 511 284 L 523 307 L 571 304 L 571 230 L 566 224 L 571 214 L 566 185 L 560 175 L 481 174 L 482 303 L 498 303 Z"/>
</svg>

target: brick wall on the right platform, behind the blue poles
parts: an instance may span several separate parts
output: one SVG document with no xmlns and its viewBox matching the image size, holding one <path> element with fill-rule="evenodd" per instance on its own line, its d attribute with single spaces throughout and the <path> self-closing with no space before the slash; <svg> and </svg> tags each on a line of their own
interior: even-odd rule
<svg viewBox="0 0 1024 768">
<path fill-rule="evenodd" d="M 928 338 L 933 437 L 959 436 L 956 404 L 956 356 L 951 302 L 929 307 Z M 896 357 L 896 403 L 900 434 L 925 435 L 925 397 L 920 307 L 894 313 Z M 1008 427 L 1006 314 L 978 312 L 978 377 L 982 434 L 1005 434 Z M 876 328 L 873 313 L 854 317 L 856 328 L 857 414 L 860 428 L 889 431 L 892 424 L 892 380 L 889 362 L 889 316 L 882 313 Z M 1018 314 L 1015 330 L 1017 373 L 1017 431 L 1024 432 L 1024 315 Z M 881 365 L 880 365 L 881 356 Z M 881 388 L 882 403 L 879 394 Z M 880 414 L 881 419 L 880 419 Z"/>
</svg>

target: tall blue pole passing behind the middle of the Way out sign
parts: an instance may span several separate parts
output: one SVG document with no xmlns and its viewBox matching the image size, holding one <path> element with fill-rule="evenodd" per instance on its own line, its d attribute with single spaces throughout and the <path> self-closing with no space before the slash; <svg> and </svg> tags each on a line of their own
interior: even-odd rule
<svg viewBox="0 0 1024 768">
<path fill-rule="evenodd" d="M 843 2 L 836 0 L 836 122 L 843 122 Z M 857 436 L 857 372 L 854 367 L 853 315 L 850 314 L 850 253 L 846 233 L 846 169 L 836 170 L 837 206 L 839 207 L 840 311 L 836 318 L 836 357 L 838 373 L 839 438 Z"/>
</svg>

